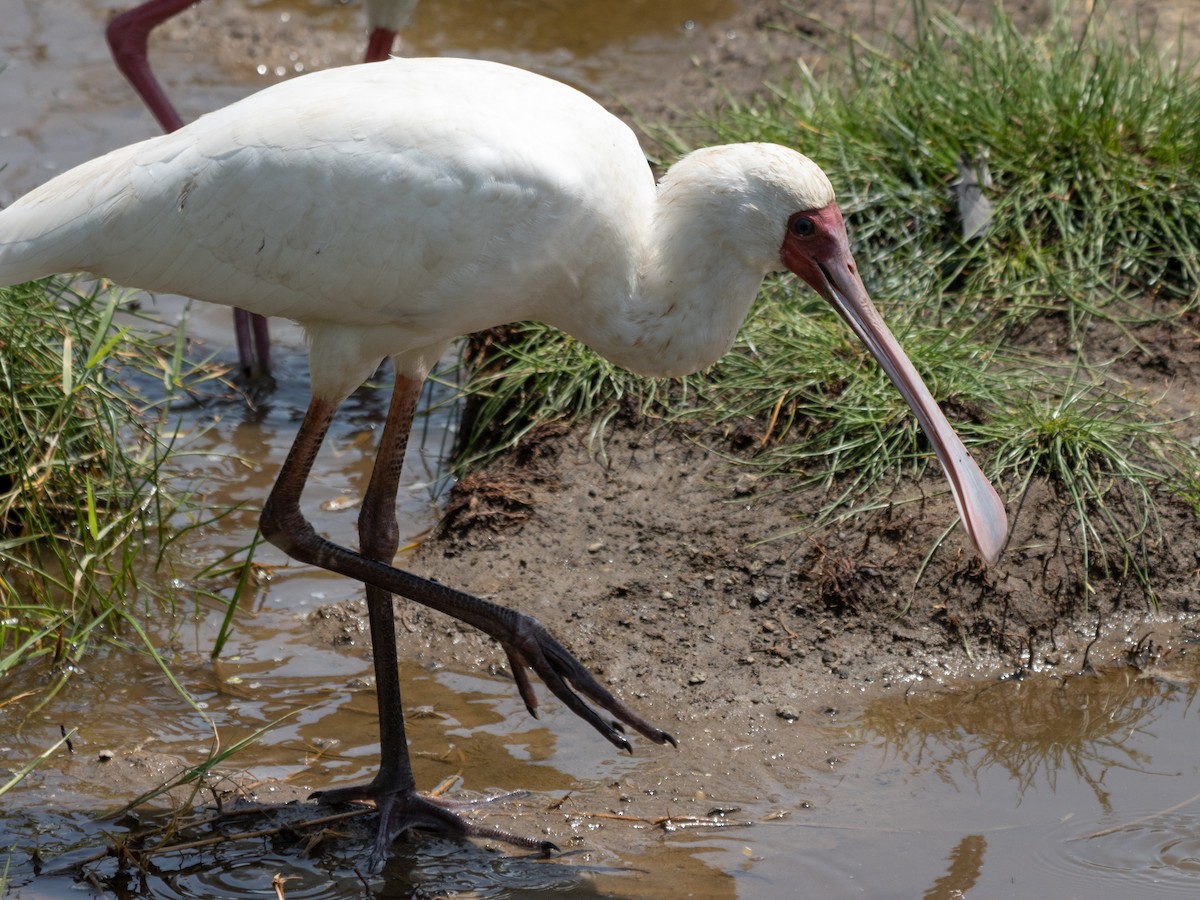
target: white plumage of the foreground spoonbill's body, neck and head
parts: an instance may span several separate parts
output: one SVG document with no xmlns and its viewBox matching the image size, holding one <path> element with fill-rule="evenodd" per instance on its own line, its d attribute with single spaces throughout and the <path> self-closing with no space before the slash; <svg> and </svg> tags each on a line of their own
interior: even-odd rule
<svg viewBox="0 0 1200 900">
<path fill-rule="evenodd" d="M 679 163 L 656 203 L 632 132 L 578 91 L 391 60 L 284 82 L 65 173 L 5 212 L 0 277 L 86 271 L 295 319 L 332 401 L 384 355 L 518 319 L 683 374 L 728 349 L 782 268 L 788 212 L 832 200 L 799 154 L 732 145 Z M 328 362 L 326 342 L 358 365 Z"/>
</svg>

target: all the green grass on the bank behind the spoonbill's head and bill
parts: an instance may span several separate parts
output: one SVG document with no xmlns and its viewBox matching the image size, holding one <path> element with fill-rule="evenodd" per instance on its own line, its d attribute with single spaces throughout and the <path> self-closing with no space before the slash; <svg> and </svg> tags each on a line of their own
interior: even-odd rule
<svg viewBox="0 0 1200 900">
<path fill-rule="evenodd" d="M 1044 479 L 1073 512 L 1081 588 L 1133 575 L 1153 600 L 1147 546 L 1165 492 L 1195 497 L 1196 452 L 1150 404 L 1114 394 L 1084 354 L 1097 318 L 1130 331 L 1195 307 L 1200 290 L 1200 85 L 1153 35 L 1122 37 L 1060 14 L 1038 35 L 1002 12 L 990 29 L 912 7 L 883 47 L 845 36 L 838 78 L 791 84 L 696 132 L 799 146 L 839 190 L 868 288 L 985 470 L 1019 496 Z M 684 152 L 683 130 L 660 143 Z M 962 234 L 955 180 L 968 163 L 992 204 Z M 1068 336 L 1073 373 L 1016 358 L 1037 322 Z M 569 419 L 602 427 L 628 407 L 755 434 L 739 458 L 822 484 L 822 518 L 919 473 L 929 452 L 900 397 L 823 304 L 769 286 L 733 353 L 674 382 L 636 379 L 570 338 L 522 326 L 469 388 L 481 398 L 467 458 Z M 746 442 L 743 442 L 744 444 Z M 992 455 L 990 464 L 986 456 Z M 1122 524 L 1123 523 L 1123 524 Z"/>
</svg>

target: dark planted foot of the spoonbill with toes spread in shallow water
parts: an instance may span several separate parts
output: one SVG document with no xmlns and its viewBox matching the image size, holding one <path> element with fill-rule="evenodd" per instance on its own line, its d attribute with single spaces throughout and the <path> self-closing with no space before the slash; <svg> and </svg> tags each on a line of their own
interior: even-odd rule
<svg viewBox="0 0 1200 900">
<path fill-rule="evenodd" d="M 324 806 L 370 800 L 379 809 L 379 832 L 376 835 L 374 848 L 371 851 L 371 870 L 378 871 L 388 856 L 388 847 L 401 834 L 410 828 L 434 832 L 455 838 L 480 838 L 482 840 L 502 841 L 524 850 L 536 850 L 553 853 L 558 847 L 551 841 L 535 838 L 522 838 L 500 828 L 480 822 L 472 822 L 460 816 L 455 810 L 473 809 L 488 803 L 498 803 L 523 796 L 523 791 L 486 797 L 478 800 L 452 800 L 445 797 L 427 797 L 412 787 L 388 788 L 372 781 L 366 785 L 335 787 L 329 791 L 317 791 L 308 799 Z"/>
</svg>

